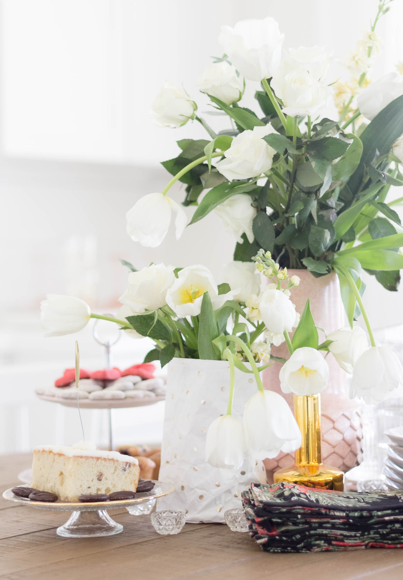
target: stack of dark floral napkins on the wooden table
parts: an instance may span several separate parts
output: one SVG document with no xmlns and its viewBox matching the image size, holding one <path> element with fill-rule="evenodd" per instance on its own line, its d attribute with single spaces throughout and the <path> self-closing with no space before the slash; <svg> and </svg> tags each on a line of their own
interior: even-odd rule
<svg viewBox="0 0 403 580">
<path fill-rule="evenodd" d="M 252 483 L 242 501 L 251 537 L 266 552 L 403 548 L 403 492 Z"/>
</svg>

